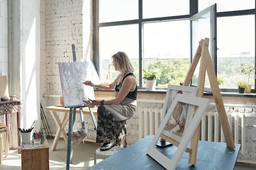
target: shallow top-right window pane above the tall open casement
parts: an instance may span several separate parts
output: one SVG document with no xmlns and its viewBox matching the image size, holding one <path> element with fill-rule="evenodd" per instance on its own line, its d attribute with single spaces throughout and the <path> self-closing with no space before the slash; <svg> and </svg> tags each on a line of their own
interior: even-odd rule
<svg viewBox="0 0 256 170">
<path fill-rule="evenodd" d="M 198 0 L 198 11 L 217 4 L 217 12 L 254 9 L 255 0 Z"/>
</svg>

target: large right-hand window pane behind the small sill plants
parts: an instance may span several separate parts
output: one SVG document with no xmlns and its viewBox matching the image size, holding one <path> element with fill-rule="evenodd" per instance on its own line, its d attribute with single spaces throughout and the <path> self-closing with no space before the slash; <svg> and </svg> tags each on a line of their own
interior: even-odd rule
<svg viewBox="0 0 256 170">
<path fill-rule="evenodd" d="M 254 15 L 217 18 L 217 37 L 217 76 L 223 78 L 223 88 L 237 89 L 237 81 L 248 81 L 239 70 L 240 62 L 255 63 Z M 254 81 L 250 78 L 252 89 Z"/>
</svg>

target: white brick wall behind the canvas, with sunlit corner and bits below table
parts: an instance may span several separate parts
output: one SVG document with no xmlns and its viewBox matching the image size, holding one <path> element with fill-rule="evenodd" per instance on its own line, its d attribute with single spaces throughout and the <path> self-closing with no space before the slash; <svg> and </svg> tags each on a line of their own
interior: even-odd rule
<svg viewBox="0 0 256 170">
<path fill-rule="evenodd" d="M 91 3 L 92 0 L 41 0 L 40 32 L 41 38 L 45 38 L 45 48 L 40 48 L 41 58 L 44 58 L 41 59 L 40 68 L 40 85 L 43 85 L 40 87 L 40 101 L 43 107 L 60 104 L 59 98 L 43 97 L 43 94 L 62 96 L 58 62 L 73 62 L 72 44 L 75 45 L 77 62 L 83 58 L 83 46 L 92 47 Z M 43 46 L 42 42 L 41 46 Z M 88 49 L 85 48 L 85 50 Z M 88 54 L 88 51 L 86 52 Z M 89 56 L 91 55 L 89 50 Z M 51 132 L 56 133 L 57 129 L 52 116 L 48 111 L 45 111 L 45 114 Z M 62 116 L 60 113 L 59 117 L 62 118 Z M 79 119 L 79 117 L 76 118 L 76 124 L 80 122 Z M 90 117 L 88 119 L 91 120 Z M 76 127 L 81 125 L 78 124 Z M 68 126 L 65 129 L 67 130 Z M 96 137 L 92 136 L 92 138 Z"/>
</svg>

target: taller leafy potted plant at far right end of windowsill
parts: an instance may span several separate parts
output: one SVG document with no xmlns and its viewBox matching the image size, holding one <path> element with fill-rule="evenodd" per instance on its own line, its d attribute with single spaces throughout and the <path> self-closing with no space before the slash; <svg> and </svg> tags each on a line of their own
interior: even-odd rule
<svg viewBox="0 0 256 170">
<path fill-rule="evenodd" d="M 248 77 L 247 86 L 245 87 L 245 93 L 251 93 L 252 85 L 249 84 L 249 80 L 250 80 L 251 77 L 256 78 L 255 65 L 252 62 L 251 63 L 241 62 L 240 63 L 240 70 L 243 74 L 245 74 Z"/>
</svg>

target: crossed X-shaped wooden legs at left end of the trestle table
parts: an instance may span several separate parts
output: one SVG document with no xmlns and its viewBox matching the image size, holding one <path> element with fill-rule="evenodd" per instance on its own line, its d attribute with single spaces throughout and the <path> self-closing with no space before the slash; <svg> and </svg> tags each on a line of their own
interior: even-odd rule
<svg viewBox="0 0 256 170">
<path fill-rule="evenodd" d="M 54 151 L 54 150 L 56 150 L 56 146 L 58 144 L 58 140 L 61 136 L 61 133 L 63 135 L 65 142 L 67 143 L 67 134 L 64 130 L 64 127 L 65 127 L 67 121 L 69 120 L 69 117 L 68 117 L 68 113 L 64 113 L 63 118 L 61 120 L 59 120 L 57 113 L 55 111 L 50 111 L 50 113 L 52 114 L 54 122 L 56 123 L 56 125 L 58 127 L 58 129 L 56 131 L 56 135 L 54 137 L 54 141 L 52 143 L 52 148 L 51 148 L 51 151 Z"/>
</svg>

